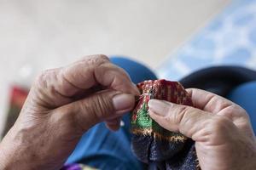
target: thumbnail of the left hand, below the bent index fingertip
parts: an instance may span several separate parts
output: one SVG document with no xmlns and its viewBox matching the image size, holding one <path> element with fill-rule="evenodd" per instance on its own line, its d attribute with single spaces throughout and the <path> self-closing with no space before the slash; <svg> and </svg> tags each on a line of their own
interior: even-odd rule
<svg viewBox="0 0 256 170">
<path fill-rule="evenodd" d="M 117 94 L 113 96 L 113 107 L 115 111 L 123 111 L 132 108 L 135 99 L 131 94 Z"/>
</svg>

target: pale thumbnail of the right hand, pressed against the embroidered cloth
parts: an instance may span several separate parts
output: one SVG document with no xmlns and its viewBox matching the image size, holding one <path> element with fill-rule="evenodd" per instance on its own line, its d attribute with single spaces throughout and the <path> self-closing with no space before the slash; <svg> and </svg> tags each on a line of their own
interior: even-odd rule
<svg viewBox="0 0 256 170">
<path fill-rule="evenodd" d="M 170 107 L 171 103 L 166 103 L 159 99 L 150 99 L 148 101 L 148 107 L 150 111 L 154 111 L 155 114 L 160 116 L 166 116 L 168 113 L 168 108 Z"/>
</svg>

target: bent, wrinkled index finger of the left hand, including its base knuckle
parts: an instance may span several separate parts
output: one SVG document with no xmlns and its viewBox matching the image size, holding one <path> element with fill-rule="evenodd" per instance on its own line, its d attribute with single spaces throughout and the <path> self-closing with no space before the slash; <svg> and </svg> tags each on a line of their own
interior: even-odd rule
<svg viewBox="0 0 256 170">
<path fill-rule="evenodd" d="M 32 91 L 40 94 L 40 103 L 47 99 L 42 105 L 56 107 L 72 102 L 79 95 L 90 94 L 92 88 L 99 86 L 139 95 L 128 74 L 102 54 L 86 56 L 71 65 L 44 71 Z"/>
</svg>

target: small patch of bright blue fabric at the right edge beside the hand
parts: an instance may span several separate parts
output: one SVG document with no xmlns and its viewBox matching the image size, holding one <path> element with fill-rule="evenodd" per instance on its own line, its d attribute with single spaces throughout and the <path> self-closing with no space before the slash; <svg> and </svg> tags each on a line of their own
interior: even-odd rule
<svg viewBox="0 0 256 170">
<path fill-rule="evenodd" d="M 241 84 L 233 89 L 227 98 L 241 105 L 247 111 L 253 125 L 253 131 L 256 133 L 256 81 Z"/>
</svg>

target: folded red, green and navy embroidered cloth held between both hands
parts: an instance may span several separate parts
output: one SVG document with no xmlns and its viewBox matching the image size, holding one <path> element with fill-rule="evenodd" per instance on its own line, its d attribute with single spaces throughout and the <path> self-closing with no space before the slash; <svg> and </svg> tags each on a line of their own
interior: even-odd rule
<svg viewBox="0 0 256 170">
<path fill-rule="evenodd" d="M 179 82 L 145 81 L 137 84 L 141 92 L 131 113 L 131 150 L 150 169 L 200 169 L 195 142 L 181 133 L 167 131 L 148 116 L 148 100 L 163 99 L 193 106 L 189 94 Z"/>
</svg>

